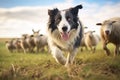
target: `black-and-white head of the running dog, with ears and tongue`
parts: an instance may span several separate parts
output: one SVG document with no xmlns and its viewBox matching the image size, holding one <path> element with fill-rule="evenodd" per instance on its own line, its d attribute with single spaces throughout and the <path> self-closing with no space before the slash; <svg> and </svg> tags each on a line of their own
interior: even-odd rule
<svg viewBox="0 0 120 80">
<path fill-rule="evenodd" d="M 48 10 L 48 29 L 51 29 L 51 33 L 55 30 L 58 30 L 61 38 L 63 38 L 64 40 L 68 40 L 70 31 L 78 29 L 79 9 L 82 9 L 82 5 L 78 5 L 65 10 L 59 10 L 57 8 L 53 10 Z"/>
</svg>

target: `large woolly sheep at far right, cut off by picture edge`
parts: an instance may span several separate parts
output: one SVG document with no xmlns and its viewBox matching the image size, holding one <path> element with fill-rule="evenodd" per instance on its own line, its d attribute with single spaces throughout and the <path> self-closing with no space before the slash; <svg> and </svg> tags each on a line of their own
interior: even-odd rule
<svg viewBox="0 0 120 80">
<path fill-rule="evenodd" d="M 101 26 L 100 34 L 105 53 L 107 55 L 111 54 L 107 44 L 112 43 L 115 45 L 114 56 L 118 55 L 120 47 L 120 17 L 110 18 L 96 25 Z"/>
</svg>

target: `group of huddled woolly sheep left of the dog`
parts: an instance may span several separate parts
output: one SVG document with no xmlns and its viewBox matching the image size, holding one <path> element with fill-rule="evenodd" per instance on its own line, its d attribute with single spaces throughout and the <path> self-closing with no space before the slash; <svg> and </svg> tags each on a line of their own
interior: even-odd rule
<svg viewBox="0 0 120 80">
<path fill-rule="evenodd" d="M 47 44 L 47 37 L 45 35 L 40 35 L 39 30 L 33 31 L 32 35 L 23 34 L 21 38 L 11 39 L 6 41 L 6 48 L 10 52 L 39 52 L 40 50 L 44 50 Z"/>
</svg>

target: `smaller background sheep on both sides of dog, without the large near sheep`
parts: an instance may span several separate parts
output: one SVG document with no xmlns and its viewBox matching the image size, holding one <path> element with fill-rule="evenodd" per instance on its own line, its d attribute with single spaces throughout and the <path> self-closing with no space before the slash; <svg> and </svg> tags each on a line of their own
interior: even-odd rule
<svg viewBox="0 0 120 80">
<path fill-rule="evenodd" d="M 45 46 L 48 48 L 47 36 L 40 35 L 39 31 L 33 31 L 33 35 L 23 34 L 21 38 L 11 39 L 6 41 L 6 48 L 10 52 L 39 52 L 44 50 Z M 90 48 L 92 52 L 95 52 L 96 46 L 100 41 L 98 35 L 93 34 L 95 31 L 88 31 L 84 33 L 84 37 L 81 43 L 82 47 Z M 49 50 L 49 49 L 48 49 Z"/>
</svg>

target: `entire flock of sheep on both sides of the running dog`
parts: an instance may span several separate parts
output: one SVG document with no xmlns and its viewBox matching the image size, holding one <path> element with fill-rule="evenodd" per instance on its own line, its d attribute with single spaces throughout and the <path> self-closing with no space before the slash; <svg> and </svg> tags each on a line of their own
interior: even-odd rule
<svg viewBox="0 0 120 80">
<path fill-rule="evenodd" d="M 95 53 L 96 46 L 102 40 L 103 50 L 105 50 L 107 55 L 110 55 L 110 50 L 107 48 L 108 43 L 113 43 L 115 48 L 115 55 L 119 53 L 120 47 L 120 18 L 115 17 L 108 20 L 105 20 L 103 23 L 97 23 L 96 25 L 100 25 L 100 35 L 94 34 L 95 31 L 88 31 L 84 33 L 81 42 L 81 51 L 83 51 L 83 47 L 86 49 L 91 49 L 93 53 Z M 33 35 L 23 34 L 19 39 L 12 39 L 10 41 L 6 41 L 6 47 L 10 52 L 39 52 L 44 49 L 45 46 L 48 47 L 47 36 L 40 35 L 39 31 L 33 31 Z M 48 49 L 49 50 L 49 49 Z"/>
</svg>

